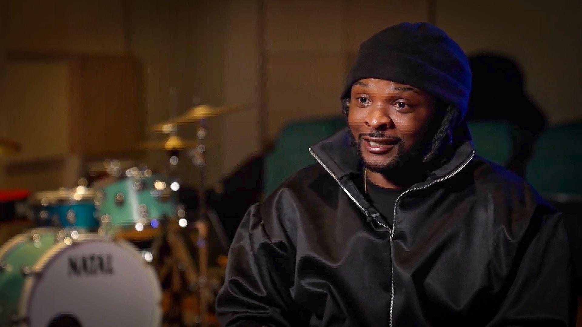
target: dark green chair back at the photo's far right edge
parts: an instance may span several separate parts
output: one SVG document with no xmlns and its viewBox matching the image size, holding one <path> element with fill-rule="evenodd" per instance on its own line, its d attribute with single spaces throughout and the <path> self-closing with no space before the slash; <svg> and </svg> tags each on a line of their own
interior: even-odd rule
<svg viewBox="0 0 582 327">
<path fill-rule="evenodd" d="M 551 127 L 540 135 L 526 179 L 545 196 L 582 196 L 582 122 Z"/>
</svg>

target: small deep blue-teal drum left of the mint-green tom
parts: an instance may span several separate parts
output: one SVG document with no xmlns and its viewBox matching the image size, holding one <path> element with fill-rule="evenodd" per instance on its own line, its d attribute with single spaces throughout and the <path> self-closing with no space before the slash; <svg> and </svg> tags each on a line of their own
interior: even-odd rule
<svg viewBox="0 0 582 327">
<path fill-rule="evenodd" d="M 97 228 L 99 221 L 94 194 L 86 188 L 83 192 L 60 189 L 36 193 L 30 201 L 30 218 L 34 225 L 85 230 Z"/>
</svg>

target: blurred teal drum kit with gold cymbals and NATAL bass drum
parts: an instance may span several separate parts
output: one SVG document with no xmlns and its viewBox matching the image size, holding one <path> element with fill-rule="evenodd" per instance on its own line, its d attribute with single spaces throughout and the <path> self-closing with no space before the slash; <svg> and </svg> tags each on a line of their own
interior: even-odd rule
<svg viewBox="0 0 582 327">
<path fill-rule="evenodd" d="M 72 189 L 32 194 L 33 228 L 0 246 L 0 326 L 216 324 L 211 309 L 223 268 L 209 267 L 209 232 L 223 248 L 228 241 L 205 205 L 206 120 L 244 108 L 198 105 L 153 126 L 166 140 L 141 149 L 166 151 L 166 173 L 108 160 L 92 168 L 104 174 L 91 184 L 81 178 Z M 187 123 L 197 123 L 197 140 L 178 136 Z M 0 139 L 0 155 L 19 148 Z M 182 151 L 200 175 L 193 215 L 178 200 Z"/>
</svg>

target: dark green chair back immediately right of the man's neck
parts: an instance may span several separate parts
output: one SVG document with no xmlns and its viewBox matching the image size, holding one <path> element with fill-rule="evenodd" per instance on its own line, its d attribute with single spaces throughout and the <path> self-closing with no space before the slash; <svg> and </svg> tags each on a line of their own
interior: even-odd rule
<svg viewBox="0 0 582 327">
<path fill-rule="evenodd" d="M 481 157 L 505 166 L 513 151 L 518 129 L 511 123 L 497 120 L 469 122 L 475 152 Z"/>
</svg>

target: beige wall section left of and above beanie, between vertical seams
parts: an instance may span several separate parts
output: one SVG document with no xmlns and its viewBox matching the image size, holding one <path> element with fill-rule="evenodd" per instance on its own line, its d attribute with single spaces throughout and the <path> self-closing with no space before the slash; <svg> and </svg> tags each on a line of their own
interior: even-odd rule
<svg viewBox="0 0 582 327">
<path fill-rule="evenodd" d="M 264 140 L 286 123 L 340 113 L 359 45 L 377 31 L 429 19 L 427 0 L 262 1 Z"/>
</svg>

